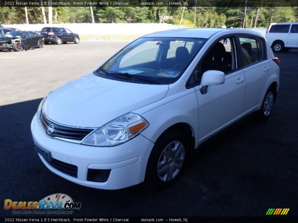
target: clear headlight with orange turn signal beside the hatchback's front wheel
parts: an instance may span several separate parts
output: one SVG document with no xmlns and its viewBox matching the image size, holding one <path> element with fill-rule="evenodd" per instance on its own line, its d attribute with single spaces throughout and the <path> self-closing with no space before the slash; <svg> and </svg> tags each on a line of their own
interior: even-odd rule
<svg viewBox="0 0 298 223">
<path fill-rule="evenodd" d="M 121 116 L 93 132 L 82 144 L 90 146 L 116 146 L 135 137 L 147 128 L 148 122 L 133 113 Z"/>
</svg>

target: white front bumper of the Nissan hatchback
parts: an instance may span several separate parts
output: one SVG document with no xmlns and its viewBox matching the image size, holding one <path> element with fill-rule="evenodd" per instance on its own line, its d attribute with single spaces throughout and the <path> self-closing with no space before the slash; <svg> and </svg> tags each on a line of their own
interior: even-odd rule
<svg viewBox="0 0 298 223">
<path fill-rule="evenodd" d="M 31 122 L 34 143 L 49 151 L 55 162 L 77 167 L 77 176 L 71 176 L 52 165 L 38 153 L 43 164 L 53 173 L 74 183 L 99 189 L 120 189 L 144 181 L 147 161 L 154 144 L 138 135 L 119 146 L 95 147 L 50 138 L 39 125 L 35 114 Z M 111 170 L 105 182 L 88 180 L 90 170 Z"/>
</svg>

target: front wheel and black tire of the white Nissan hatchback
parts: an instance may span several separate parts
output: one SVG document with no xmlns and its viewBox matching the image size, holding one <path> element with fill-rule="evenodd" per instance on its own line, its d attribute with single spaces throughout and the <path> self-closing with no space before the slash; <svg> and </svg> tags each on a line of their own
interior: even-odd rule
<svg viewBox="0 0 298 223">
<path fill-rule="evenodd" d="M 183 172 L 187 157 L 188 143 L 184 134 L 177 130 L 165 132 L 151 151 L 145 182 L 156 189 L 173 185 Z"/>
</svg>

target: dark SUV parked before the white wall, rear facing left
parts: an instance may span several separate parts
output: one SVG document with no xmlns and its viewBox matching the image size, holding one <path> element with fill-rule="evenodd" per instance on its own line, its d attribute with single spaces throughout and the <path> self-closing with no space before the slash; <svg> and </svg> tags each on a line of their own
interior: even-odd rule
<svg viewBox="0 0 298 223">
<path fill-rule="evenodd" d="M 71 32 L 67 28 L 44 27 L 41 30 L 41 35 L 44 36 L 44 44 L 51 42 L 60 45 L 61 43 L 66 44 L 67 42 L 80 42 L 79 35 Z"/>
</svg>

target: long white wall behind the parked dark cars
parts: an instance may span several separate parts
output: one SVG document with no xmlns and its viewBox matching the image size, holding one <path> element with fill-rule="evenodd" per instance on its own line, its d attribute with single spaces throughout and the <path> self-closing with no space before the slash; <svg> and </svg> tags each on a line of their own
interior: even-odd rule
<svg viewBox="0 0 298 223">
<path fill-rule="evenodd" d="M 185 28 L 183 26 L 159 23 L 68 23 L 68 24 L 11 24 L 4 27 L 13 27 L 25 31 L 40 31 L 46 26 L 65 27 L 74 33 L 97 35 L 145 35 L 148 33 Z"/>
</svg>

